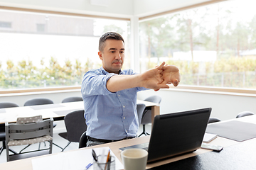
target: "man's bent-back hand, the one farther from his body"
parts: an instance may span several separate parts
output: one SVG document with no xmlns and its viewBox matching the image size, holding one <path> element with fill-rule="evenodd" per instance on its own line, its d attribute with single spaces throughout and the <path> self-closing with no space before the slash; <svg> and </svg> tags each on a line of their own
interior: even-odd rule
<svg viewBox="0 0 256 170">
<path fill-rule="evenodd" d="M 181 74 L 179 73 L 178 67 L 174 65 L 165 65 L 162 70 L 161 78 L 164 79 L 164 81 L 161 84 L 174 84 L 174 86 L 178 86 L 181 81 Z"/>
</svg>

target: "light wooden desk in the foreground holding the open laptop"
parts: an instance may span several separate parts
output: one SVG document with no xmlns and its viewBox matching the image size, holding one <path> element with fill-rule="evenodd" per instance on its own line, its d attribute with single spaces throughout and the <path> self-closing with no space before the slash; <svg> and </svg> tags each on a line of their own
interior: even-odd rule
<svg viewBox="0 0 256 170">
<path fill-rule="evenodd" d="M 245 123 L 256 124 L 256 115 L 250 115 L 250 116 L 235 119 L 235 120 L 239 120 L 239 121 L 242 121 Z M 230 120 L 228 120 L 228 121 L 230 121 Z M 225 122 L 225 121 L 223 121 L 223 122 Z M 130 145 L 137 145 L 140 143 L 149 142 L 149 137 L 150 136 L 138 137 L 138 138 L 130 139 L 130 140 L 123 140 L 123 141 L 112 142 L 112 143 L 108 143 L 108 144 L 104 144 L 104 145 L 97 145 L 95 147 L 110 147 L 112 152 L 114 152 L 116 157 L 121 161 L 121 158 L 120 158 L 121 152 L 119 151 L 120 147 L 127 147 Z M 256 153 L 255 143 L 256 143 L 256 138 L 253 138 L 251 140 L 246 140 L 244 142 L 237 142 L 235 140 L 229 140 L 224 137 L 217 137 L 215 140 L 210 142 L 210 144 L 222 145 L 224 147 L 224 149 L 221 152 L 213 152 L 208 149 L 198 149 L 196 152 L 193 152 L 193 153 L 183 154 L 181 156 L 171 157 L 170 159 L 164 159 L 159 162 L 147 164 L 146 169 L 161 169 L 161 170 L 172 169 L 172 168 L 180 169 L 181 166 L 185 167 L 186 169 L 201 169 L 202 167 L 206 167 L 205 169 L 208 169 L 208 165 L 210 165 L 210 164 L 215 164 L 215 167 L 217 167 L 217 169 L 237 169 L 235 164 L 239 164 L 238 167 L 246 167 L 247 169 L 250 169 L 250 167 L 252 167 L 251 169 L 255 169 L 255 167 L 256 167 L 256 165 L 255 165 L 255 155 L 256 155 L 255 154 Z M 82 149 L 90 149 L 90 148 L 95 148 L 95 147 L 87 147 L 87 148 L 82 148 Z M 250 155 L 247 155 L 246 152 L 244 153 L 244 151 L 248 151 L 248 149 L 251 150 Z M 68 152 L 76 152 L 78 150 L 79 149 L 75 149 L 73 151 L 68 151 Z M 65 153 L 68 153 L 68 152 L 65 152 Z M 227 153 L 230 153 L 230 154 L 227 154 Z M 63 152 L 60 154 L 63 154 Z M 233 154 L 235 154 L 235 157 L 233 157 Z M 44 155 L 41 157 L 49 157 L 49 156 L 50 155 Z M 240 156 L 240 157 L 238 157 L 238 156 Z M 208 157 L 208 159 L 206 159 L 206 161 L 203 161 L 204 157 Z M 223 160 L 223 157 L 225 158 L 225 160 L 223 160 L 223 162 L 218 162 L 218 161 L 215 162 L 216 157 L 220 157 L 218 159 L 218 161 L 220 161 L 220 159 Z M 243 159 L 241 161 L 240 160 L 237 161 L 237 159 L 235 159 L 237 157 L 238 157 L 238 159 L 240 159 L 241 157 Z M 247 157 L 251 157 L 251 158 L 247 159 Z M 38 157 L 36 157 L 36 158 L 38 158 Z M 32 163 L 31 163 L 32 159 L 35 159 L 35 158 L 21 159 L 21 160 L 14 161 L 14 162 L 3 163 L 3 164 L 0 164 L 0 169 L 9 170 L 9 169 L 17 169 L 17 167 L 18 167 L 18 169 L 20 169 L 20 170 L 25 170 L 25 169 L 32 170 L 33 169 Z M 196 159 L 196 161 L 195 161 L 195 159 Z M 231 163 L 234 163 L 234 165 L 229 166 L 230 162 L 228 162 L 228 160 L 230 160 Z M 244 160 L 246 160 L 246 161 L 243 162 Z M 172 168 L 170 168 L 170 167 L 172 167 Z"/>
</svg>

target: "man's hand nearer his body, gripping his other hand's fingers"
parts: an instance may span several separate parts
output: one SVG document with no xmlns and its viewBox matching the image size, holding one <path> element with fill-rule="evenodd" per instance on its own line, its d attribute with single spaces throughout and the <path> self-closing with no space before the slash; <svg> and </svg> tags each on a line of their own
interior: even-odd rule
<svg viewBox="0 0 256 170">
<path fill-rule="evenodd" d="M 149 69 L 148 71 L 141 74 L 142 84 L 141 86 L 147 89 L 154 89 L 155 91 L 159 89 L 169 89 L 169 86 L 163 83 L 162 72 L 165 62 L 154 69 Z"/>
</svg>

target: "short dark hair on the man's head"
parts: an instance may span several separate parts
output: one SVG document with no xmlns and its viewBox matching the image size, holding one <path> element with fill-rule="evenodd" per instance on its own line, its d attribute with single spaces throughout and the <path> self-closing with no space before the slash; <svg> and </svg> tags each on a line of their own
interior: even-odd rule
<svg viewBox="0 0 256 170">
<path fill-rule="evenodd" d="M 114 33 L 114 32 L 107 32 L 105 34 L 103 34 L 100 38 L 100 42 L 99 42 L 99 50 L 101 52 L 103 52 L 104 48 L 105 48 L 105 42 L 106 40 L 122 40 L 122 42 L 124 42 L 124 38 L 122 38 L 121 35 L 119 35 L 119 33 Z"/>
</svg>

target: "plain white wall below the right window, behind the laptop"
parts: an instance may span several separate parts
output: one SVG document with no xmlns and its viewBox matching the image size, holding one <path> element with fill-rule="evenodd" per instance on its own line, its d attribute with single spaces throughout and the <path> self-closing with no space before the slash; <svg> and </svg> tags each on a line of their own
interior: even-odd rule
<svg viewBox="0 0 256 170">
<path fill-rule="evenodd" d="M 242 111 L 256 113 L 256 97 L 232 96 L 224 94 L 205 94 L 161 89 L 160 91 L 140 91 L 138 98 L 159 95 L 162 98 L 160 113 L 175 113 L 198 108 L 213 108 L 211 116 L 228 120 L 235 118 Z"/>
</svg>

